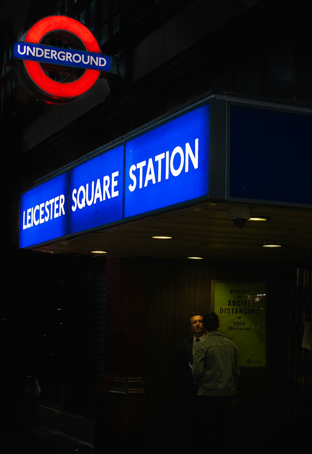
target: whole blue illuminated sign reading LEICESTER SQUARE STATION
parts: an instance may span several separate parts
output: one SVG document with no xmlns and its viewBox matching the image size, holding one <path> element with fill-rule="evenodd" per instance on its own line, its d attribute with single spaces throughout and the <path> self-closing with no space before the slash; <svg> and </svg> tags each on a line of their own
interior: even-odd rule
<svg viewBox="0 0 312 454">
<path fill-rule="evenodd" d="M 209 104 L 21 195 L 20 248 L 208 196 Z"/>
</svg>

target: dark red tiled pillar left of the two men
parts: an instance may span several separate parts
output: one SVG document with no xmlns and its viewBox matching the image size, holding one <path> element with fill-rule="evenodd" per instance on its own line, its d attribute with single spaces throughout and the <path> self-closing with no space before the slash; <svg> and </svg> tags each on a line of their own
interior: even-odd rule
<svg viewBox="0 0 312 454">
<path fill-rule="evenodd" d="M 95 407 L 97 454 L 143 449 L 143 272 L 137 260 L 107 259 L 105 374 Z"/>
</svg>

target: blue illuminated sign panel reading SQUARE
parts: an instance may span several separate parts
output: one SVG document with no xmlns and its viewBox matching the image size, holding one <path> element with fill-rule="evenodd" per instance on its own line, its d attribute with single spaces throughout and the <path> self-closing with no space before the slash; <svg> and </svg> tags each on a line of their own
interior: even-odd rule
<svg viewBox="0 0 312 454">
<path fill-rule="evenodd" d="M 69 233 L 122 218 L 123 178 L 123 145 L 71 170 Z"/>
</svg>

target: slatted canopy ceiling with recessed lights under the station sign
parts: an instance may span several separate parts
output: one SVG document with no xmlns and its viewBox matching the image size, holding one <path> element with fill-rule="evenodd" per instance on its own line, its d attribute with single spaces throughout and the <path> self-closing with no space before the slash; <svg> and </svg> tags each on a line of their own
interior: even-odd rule
<svg viewBox="0 0 312 454">
<path fill-rule="evenodd" d="M 90 255 L 104 250 L 117 257 L 203 257 L 207 260 L 294 261 L 312 257 L 312 211 L 288 207 L 250 206 L 251 216 L 237 229 L 228 218 L 230 203 L 205 202 L 75 238 L 35 248 L 54 254 Z M 233 204 L 232 204 L 233 206 Z M 169 236 L 158 240 L 152 236 Z M 265 248 L 266 244 L 282 247 Z"/>
</svg>

